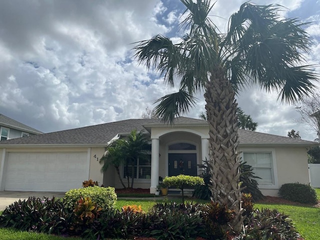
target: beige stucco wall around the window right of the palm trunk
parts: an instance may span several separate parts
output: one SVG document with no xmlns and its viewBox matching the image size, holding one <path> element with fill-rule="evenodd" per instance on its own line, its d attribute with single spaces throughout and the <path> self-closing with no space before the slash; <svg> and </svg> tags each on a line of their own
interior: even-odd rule
<svg viewBox="0 0 320 240">
<path fill-rule="evenodd" d="M 239 147 L 238 152 L 243 149 L 250 149 L 251 151 L 254 151 L 254 149 L 271 149 L 275 153 L 277 184 L 276 187 L 273 188 L 266 188 L 260 185 L 259 188 L 264 195 L 278 196 L 278 189 L 284 183 L 309 183 L 306 147 Z"/>
</svg>

